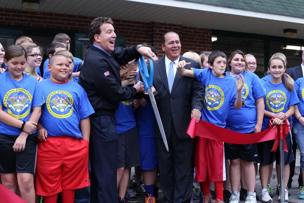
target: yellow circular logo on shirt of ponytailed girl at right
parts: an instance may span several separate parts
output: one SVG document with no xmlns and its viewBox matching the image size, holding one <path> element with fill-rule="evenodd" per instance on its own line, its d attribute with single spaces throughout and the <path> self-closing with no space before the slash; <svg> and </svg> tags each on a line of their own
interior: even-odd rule
<svg viewBox="0 0 304 203">
<path fill-rule="evenodd" d="M 272 112 L 281 112 L 286 104 L 286 94 L 281 90 L 273 90 L 266 96 L 266 104 Z"/>
</svg>

